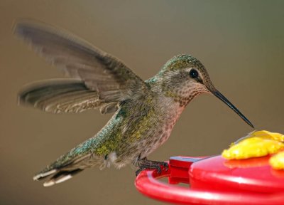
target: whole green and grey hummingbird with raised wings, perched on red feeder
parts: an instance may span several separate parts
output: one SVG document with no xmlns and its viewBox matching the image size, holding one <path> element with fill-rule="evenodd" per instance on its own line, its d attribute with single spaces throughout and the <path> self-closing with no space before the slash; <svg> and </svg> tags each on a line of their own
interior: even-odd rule
<svg viewBox="0 0 284 205">
<path fill-rule="evenodd" d="M 178 55 L 148 80 L 142 80 L 119 59 L 76 36 L 44 23 L 21 21 L 14 33 L 70 78 L 34 83 L 18 95 L 21 105 L 45 112 L 82 112 L 99 108 L 112 113 L 97 135 L 59 157 L 33 177 L 52 186 L 89 167 L 116 168 L 133 164 L 143 169 L 167 169 L 146 157 L 160 147 L 187 104 L 201 93 L 212 93 L 247 124 L 253 125 L 214 88 L 197 58 Z"/>
</svg>

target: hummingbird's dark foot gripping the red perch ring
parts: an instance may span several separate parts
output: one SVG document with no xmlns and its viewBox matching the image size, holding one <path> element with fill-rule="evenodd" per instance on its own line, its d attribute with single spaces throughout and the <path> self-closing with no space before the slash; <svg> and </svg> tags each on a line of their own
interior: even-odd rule
<svg viewBox="0 0 284 205">
<path fill-rule="evenodd" d="M 137 165 L 139 169 L 135 172 L 136 177 L 145 169 L 156 169 L 158 174 L 160 174 L 162 171 L 168 171 L 168 162 L 158 162 L 144 158 L 138 160 Z"/>
</svg>

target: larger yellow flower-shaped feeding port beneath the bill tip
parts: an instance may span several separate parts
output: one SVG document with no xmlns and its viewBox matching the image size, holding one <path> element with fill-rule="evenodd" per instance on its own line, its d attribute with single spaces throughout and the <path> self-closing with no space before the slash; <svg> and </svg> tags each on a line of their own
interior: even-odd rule
<svg viewBox="0 0 284 205">
<path fill-rule="evenodd" d="M 266 130 L 251 132 L 222 152 L 225 159 L 249 159 L 275 154 L 284 149 L 284 135 Z"/>
</svg>

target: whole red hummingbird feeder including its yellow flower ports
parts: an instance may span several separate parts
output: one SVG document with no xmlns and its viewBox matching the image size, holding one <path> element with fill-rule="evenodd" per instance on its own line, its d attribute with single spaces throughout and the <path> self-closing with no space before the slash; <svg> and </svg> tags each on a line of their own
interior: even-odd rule
<svg viewBox="0 0 284 205">
<path fill-rule="evenodd" d="M 284 204 L 284 135 L 249 133 L 213 157 L 171 157 L 136 178 L 142 194 L 173 204 Z M 168 184 L 161 178 L 168 178 Z M 174 184 L 185 183 L 187 187 Z"/>
</svg>

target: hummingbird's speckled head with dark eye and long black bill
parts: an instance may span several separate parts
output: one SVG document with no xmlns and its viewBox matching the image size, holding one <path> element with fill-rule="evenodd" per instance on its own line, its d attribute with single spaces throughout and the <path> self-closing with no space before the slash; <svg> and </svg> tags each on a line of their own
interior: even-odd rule
<svg viewBox="0 0 284 205">
<path fill-rule="evenodd" d="M 201 93 L 212 93 L 253 127 L 251 122 L 214 87 L 207 70 L 197 58 L 184 54 L 175 56 L 165 63 L 158 76 L 163 79 L 161 85 L 165 95 L 180 102 L 181 106 L 187 105 Z"/>
</svg>

